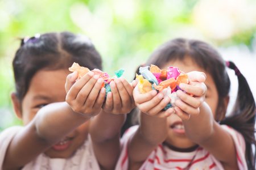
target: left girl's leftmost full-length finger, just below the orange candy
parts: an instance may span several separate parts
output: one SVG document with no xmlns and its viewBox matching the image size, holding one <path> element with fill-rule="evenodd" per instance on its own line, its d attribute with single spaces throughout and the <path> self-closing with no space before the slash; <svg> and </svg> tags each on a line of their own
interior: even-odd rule
<svg viewBox="0 0 256 170">
<path fill-rule="evenodd" d="M 89 71 L 87 74 L 82 76 L 80 80 L 78 80 L 73 86 L 70 88 L 67 94 L 67 99 L 68 101 L 75 100 L 77 95 L 79 94 L 80 90 L 84 85 L 92 78 L 93 72 Z"/>
</svg>

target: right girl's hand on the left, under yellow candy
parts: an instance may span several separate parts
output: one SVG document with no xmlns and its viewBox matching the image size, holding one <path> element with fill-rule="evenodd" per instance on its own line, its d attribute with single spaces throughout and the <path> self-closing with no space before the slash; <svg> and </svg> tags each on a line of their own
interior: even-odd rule
<svg viewBox="0 0 256 170">
<path fill-rule="evenodd" d="M 163 111 L 163 108 L 170 103 L 170 97 L 164 97 L 162 92 L 157 94 L 156 90 L 141 94 L 138 90 L 138 86 L 134 88 L 133 96 L 135 104 L 143 112 L 150 116 L 156 117 L 168 117 L 174 113 L 173 108 L 169 108 Z"/>
</svg>

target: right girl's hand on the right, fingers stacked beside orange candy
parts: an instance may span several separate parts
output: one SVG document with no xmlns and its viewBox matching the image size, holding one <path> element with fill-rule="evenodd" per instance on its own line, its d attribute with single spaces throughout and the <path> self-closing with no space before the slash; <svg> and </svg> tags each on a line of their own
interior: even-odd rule
<svg viewBox="0 0 256 170">
<path fill-rule="evenodd" d="M 180 83 L 177 91 L 180 100 L 175 101 L 175 113 L 183 120 L 189 120 L 190 116 L 200 113 L 200 106 L 204 102 L 207 87 L 204 82 L 206 75 L 203 72 L 192 71 L 188 73 L 189 84 Z"/>
</svg>

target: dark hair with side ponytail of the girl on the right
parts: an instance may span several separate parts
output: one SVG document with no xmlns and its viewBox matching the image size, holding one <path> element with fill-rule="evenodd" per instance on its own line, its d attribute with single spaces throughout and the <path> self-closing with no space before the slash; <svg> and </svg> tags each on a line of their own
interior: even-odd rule
<svg viewBox="0 0 256 170">
<path fill-rule="evenodd" d="M 256 144 L 254 137 L 255 101 L 245 77 L 232 62 L 229 62 L 229 67 L 236 71 L 239 87 L 236 104 L 229 116 L 226 116 L 224 98 L 229 95 L 230 79 L 225 61 L 212 46 L 199 40 L 174 39 L 159 46 L 145 65 L 153 64 L 163 67 L 167 62 L 176 59 L 182 61 L 185 57 L 190 57 L 197 65 L 212 75 L 218 92 L 215 119 L 220 124 L 231 126 L 243 135 L 246 142 L 247 166 L 249 169 L 254 169 L 255 154 L 252 144 Z"/>
</svg>

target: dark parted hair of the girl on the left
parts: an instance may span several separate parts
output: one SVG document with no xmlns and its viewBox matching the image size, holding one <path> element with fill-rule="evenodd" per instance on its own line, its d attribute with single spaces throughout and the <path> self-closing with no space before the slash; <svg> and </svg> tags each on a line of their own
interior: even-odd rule
<svg viewBox="0 0 256 170">
<path fill-rule="evenodd" d="M 92 69 L 102 69 L 101 56 L 86 36 L 71 32 L 44 33 L 22 39 L 13 59 L 16 95 L 26 95 L 32 77 L 42 69 L 68 69 L 73 62 Z"/>
</svg>

